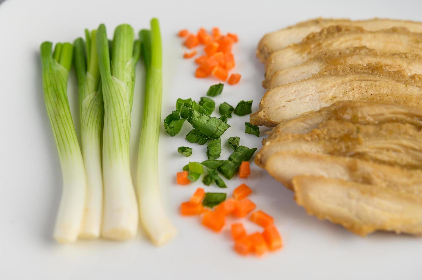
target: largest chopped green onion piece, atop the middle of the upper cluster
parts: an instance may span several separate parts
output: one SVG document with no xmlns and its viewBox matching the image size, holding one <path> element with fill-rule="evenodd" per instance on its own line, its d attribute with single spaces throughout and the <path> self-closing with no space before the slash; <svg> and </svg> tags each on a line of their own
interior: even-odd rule
<svg viewBox="0 0 422 280">
<path fill-rule="evenodd" d="M 227 128 L 230 127 L 230 125 L 219 118 L 200 114 L 195 110 L 191 110 L 191 112 L 191 124 L 193 128 L 196 128 L 211 139 L 220 138 Z"/>
</svg>

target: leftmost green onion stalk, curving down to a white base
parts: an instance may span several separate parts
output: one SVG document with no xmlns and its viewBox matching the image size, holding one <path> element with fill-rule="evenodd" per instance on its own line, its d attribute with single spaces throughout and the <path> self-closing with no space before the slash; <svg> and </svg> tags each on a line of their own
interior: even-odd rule
<svg viewBox="0 0 422 280">
<path fill-rule="evenodd" d="M 59 153 L 63 192 L 54 227 L 54 239 L 73 242 L 78 238 L 85 207 L 86 176 L 67 96 L 73 45 L 41 44 L 44 101 Z"/>
</svg>

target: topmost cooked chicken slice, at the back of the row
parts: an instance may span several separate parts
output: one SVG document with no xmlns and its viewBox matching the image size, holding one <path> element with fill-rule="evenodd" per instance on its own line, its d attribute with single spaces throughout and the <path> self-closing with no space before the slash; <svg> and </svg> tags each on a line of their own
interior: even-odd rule
<svg viewBox="0 0 422 280">
<path fill-rule="evenodd" d="M 279 51 L 293 43 L 299 43 L 309 33 L 319 32 L 331 25 L 360 26 L 366 30 L 375 31 L 392 27 L 405 27 L 411 32 L 422 32 L 422 22 L 402 21 L 394 19 L 368 19 L 351 21 L 349 19 L 311 19 L 296 25 L 265 34 L 257 48 L 257 57 L 264 62 L 274 51 Z"/>
</svg>

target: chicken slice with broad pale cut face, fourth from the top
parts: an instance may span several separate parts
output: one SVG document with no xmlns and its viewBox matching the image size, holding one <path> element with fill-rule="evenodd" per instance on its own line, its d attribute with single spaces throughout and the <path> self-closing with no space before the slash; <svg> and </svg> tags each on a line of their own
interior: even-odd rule
<svg viewBox="0 0 422 280">
<path fill-rule="evenodd" d="M 344 100 L 394 101 L 420 107 L 422 75 L 408 76 L 403 70 L 388 71 L 381 63 L 327 67 L 306 80 L 267 91 L 250 122 L 275 126 Z"/>
</svg>

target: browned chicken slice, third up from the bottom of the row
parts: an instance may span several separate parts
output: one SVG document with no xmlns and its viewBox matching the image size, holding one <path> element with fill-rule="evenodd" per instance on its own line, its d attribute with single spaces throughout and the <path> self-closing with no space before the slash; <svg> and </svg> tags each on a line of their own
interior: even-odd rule
<svg viewBox="0 0 422 280">
<path fill-rule="evenodd" d="M 363 125 L 327 120 L 306 134 L 278 133 L 265 141 L 255 162 L 265 166 L 271 155 L 299 150 L 371 160 L 407 169 L 422 166 L 422 131 L 410 124 Z"/>
</svg>

